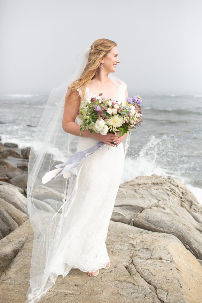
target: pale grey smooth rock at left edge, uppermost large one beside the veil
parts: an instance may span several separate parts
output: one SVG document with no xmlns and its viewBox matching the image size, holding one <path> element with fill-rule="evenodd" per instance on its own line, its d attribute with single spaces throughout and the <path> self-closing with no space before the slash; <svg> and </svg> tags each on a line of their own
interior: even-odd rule
<svg viewBox="0 0 202 303">
<path fill-rule="evenodd" d="M 18 191 L 17 188 L 8 188 L 8 186 L 0 185 L 0 198 L 11 203 L 17 209 L 28 215 L 27 199 Z"/>
</svg>

